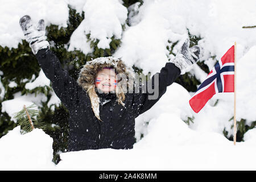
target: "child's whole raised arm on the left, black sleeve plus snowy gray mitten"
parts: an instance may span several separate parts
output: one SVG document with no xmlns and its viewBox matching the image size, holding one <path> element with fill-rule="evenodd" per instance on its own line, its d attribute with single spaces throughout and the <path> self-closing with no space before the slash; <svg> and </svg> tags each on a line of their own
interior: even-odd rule
<svg viewBox="0 0 256 182">
<path fill-rule="evenodd" d="M 68 75 L 68 72 L 61 67 L 59 59 L 49 50 L 49 43 L 45 36 L 44 21 L 39 20 L 38 26 L 34 27 L 28 15 L 20 18 L 24 36 L 30 44 L 32 52 L 36 55 L 40 67 L 44 74 L 52 82 L 52 87 L 57 97 L 67 109 L 72 109 L 76 105 L 78 94 L 82 88 L 76 80 Z"/>
</svg>

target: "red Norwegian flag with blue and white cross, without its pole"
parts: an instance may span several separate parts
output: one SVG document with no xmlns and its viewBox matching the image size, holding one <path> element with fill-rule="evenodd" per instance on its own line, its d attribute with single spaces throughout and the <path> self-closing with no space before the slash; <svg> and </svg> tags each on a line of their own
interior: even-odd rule
<svg viewBox="0 0 256 182">
<path fill-rule="evenodd" d="M 198 113 L 216 93 L 234 92 L 234 46 L 214 65 L 214 68 L 189 100 Z"/>
</svg>

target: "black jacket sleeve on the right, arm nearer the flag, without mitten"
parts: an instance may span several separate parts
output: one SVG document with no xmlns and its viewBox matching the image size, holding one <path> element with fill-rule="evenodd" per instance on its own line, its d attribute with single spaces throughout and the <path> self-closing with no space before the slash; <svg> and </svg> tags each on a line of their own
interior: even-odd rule
<svg viewBox="0 0 256 182">
<path fill-rule="evenodd" d="M 166 93 L 167 86 L 171 85 L 179 76 L 180 69 L 173 63 L 166 63 L 165 67 L 160 70 L 160 73 L 155 73 L 150 81 L 146 82 L 146 87 L 152 82 L 152 86 L 150 85 L 149 87 L 153 88 L 152 90 L 154 90 L 154 92 L 151 90 L 150 93 L 147 89 L 145 93 L 134 93 L 133 109 L 135 111 L 135 118 L 156 104 L 160 97 Z"/>
</svg>

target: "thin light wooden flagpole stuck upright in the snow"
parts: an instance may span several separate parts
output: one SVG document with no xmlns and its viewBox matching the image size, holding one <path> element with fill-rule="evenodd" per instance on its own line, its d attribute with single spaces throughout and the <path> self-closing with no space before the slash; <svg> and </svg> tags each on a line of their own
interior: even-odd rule
<svg viewBox="0 0 256 182">
<path fill-rule="evenodd" d="M 234 145 L 237 140 L 237 119 L 236 119 L 236 102 L 237 102 L 237 42 L 234 43 Z"/>
</svg>

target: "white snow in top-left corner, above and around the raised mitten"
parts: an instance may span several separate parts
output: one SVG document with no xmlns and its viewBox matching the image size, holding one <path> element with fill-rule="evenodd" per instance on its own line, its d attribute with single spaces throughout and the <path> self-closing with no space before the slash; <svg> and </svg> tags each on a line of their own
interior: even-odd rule
<svg viewBox="0 0 256 182">
<path fill-rule="evenodd" d="M 24 15 L 30 15 L 35 24 L 40 19 L 44 19 L 46 26 L 52 23 L 67 27 L 68 6 L 64 0 L 2 0 L 0 12 L 0 46 L 2 47 L 17 48 L 18 43 L 22 43 L 24 35 L 19 27 L 19 19 Z"/>
</svg>

